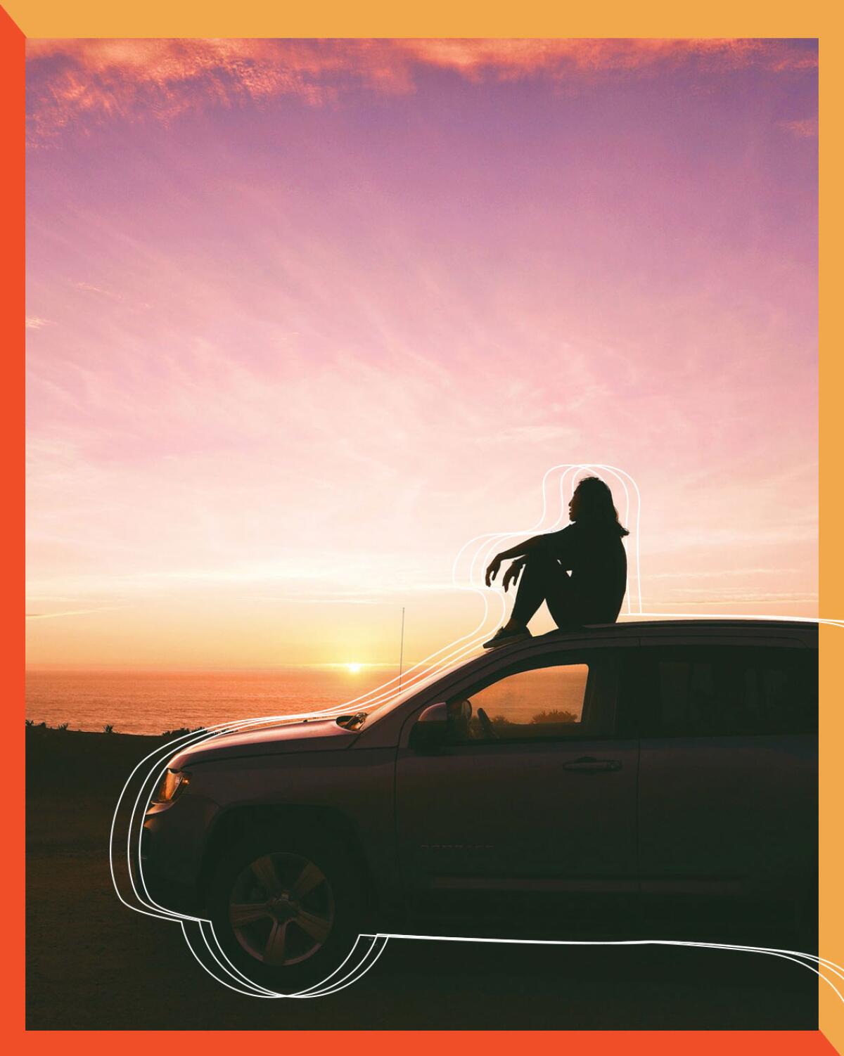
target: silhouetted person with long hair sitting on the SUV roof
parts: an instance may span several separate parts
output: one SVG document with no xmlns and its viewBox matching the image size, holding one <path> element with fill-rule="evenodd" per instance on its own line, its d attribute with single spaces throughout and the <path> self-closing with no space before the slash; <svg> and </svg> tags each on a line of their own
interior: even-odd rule
<svg viewBox="0 0 844 1056">
<path fill-rule="evenodd" d="M 627 583 L 621 540 L 630 533 L 619 524 L 613 493 L 600 477 L 587 476 L 578 484 L 568 517 L 571 524 L 561 531 L 533 535 L 489 563 L 487 586 L 502 562 L 515 559 L 502 585 L 505 592 L 511 584 L 518 589 L 510 619 L 484 642 L 485 649 L 530 638 L 527 625 L 543 602 L 562 629 L 616 622 Z"/>
</svg>

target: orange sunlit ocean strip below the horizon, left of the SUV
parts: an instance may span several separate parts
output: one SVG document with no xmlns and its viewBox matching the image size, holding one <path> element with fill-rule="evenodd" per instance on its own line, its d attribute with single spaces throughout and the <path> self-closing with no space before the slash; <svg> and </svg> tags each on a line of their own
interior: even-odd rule
<svg viewBox="0 0 844 1056">
<path fill-rule="evenodd" d="M 274 671 L 53 671 L 26 673 L 26 718 L 71 730 L 161 734 L 263 715 L 292 715 L 354 700 L 395 667 Z"/>
</svg>

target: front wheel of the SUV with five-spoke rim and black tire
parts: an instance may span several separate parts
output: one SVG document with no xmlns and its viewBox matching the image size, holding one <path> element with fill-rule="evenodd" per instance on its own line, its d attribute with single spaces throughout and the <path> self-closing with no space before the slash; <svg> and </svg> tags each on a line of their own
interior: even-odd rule
<svg viewBox="0 0 844 1056">
<path fill-rule="evenodd" d="M 248 979 L 294 994 L 322 982 L 349 956 L 362 923 L 361 895 L 359 870 L 336 841 L 262 830 L 224 852 L 208 912 L 223 950 Z"/>
</svg>

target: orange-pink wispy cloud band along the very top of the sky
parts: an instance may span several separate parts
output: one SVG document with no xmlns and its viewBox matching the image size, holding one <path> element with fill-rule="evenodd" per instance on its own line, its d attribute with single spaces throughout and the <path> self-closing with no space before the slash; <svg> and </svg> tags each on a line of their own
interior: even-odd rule
<svg viewBox="0 0 844 1056">
<path fill-rule="evenodd" d="M 541 76 L 579 84 L 652 76 L 811 70 L 817 52 L 786 40 L 31 40 L 30 142 L 76 122 L 168 122 L 209 107 L 290 96 L 311 106 L 353 90 L 402 94 L 428 69 L 469 81 Z"/>
</svg>

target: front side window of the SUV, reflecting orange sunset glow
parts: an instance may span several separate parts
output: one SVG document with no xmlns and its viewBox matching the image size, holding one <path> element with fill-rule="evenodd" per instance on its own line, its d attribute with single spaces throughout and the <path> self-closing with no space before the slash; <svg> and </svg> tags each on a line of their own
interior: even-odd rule
<svg viewBox="0 0 844 1056">
<path fill-rule="evenodd" d="M 611 657 L 517 671 L 449 701 L 454 741 L 600 736 L 612 725 Z"/>
</svg>

